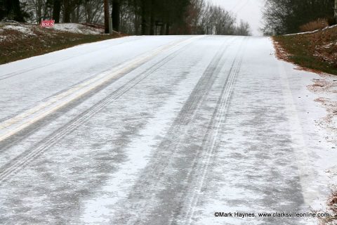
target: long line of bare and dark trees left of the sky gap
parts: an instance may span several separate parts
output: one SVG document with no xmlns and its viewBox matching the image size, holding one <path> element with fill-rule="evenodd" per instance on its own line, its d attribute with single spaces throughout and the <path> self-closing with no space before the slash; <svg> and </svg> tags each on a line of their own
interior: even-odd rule
<svg viewBox="0 0 337 225">
<path fill-rule="evenodd" d="M 114 31 L 127 34 L 249 35 L 249 24 L 206 0 L 109 0 Z M 0 0 L 0 20 L 104 22 L 103 0 Z"/>
</svg>

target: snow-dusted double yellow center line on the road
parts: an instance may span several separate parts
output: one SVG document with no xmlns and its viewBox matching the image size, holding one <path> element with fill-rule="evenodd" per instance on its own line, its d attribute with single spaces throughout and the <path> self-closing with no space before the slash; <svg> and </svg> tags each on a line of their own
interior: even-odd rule
<svg viewBox="0 0 337 225">
<path fill-rule="evenodd" d="M 185 44 L 189 44 L 190 42 L 199 38 L 201 37 L 191 37 L 189 39 L 173 41 L 166 46 L 161 46 L 157 49 L 154 49 L 150 53 L 145 53 L 142 56 L 138 56 L 134 60 L 119 65 L 117 68 L 114 69 L 114 72 L 110 74 L 106 75 L 105 73 L 103 73 L 97 75 L 92 79 L 88 79 L 85 82 L 73 86 L 71 89 L 62 92 L 61 94 L 53 96 L 44 103 L 36 105 L 33 108 L 30 108 L 29 110 L 20 113 L 19 115 L 15 115 L 11 119 L 8 119 L 0 124 L 0 141 L 8 139 L 10 136 L 17 134 L 19 131 L 22 131 L 23 129 L 34 124 L 35 122 L 43 119 L 51 113 L 54 113 L 56 110 L 63 108 L 65 105 L 71 103 L 72 101 L 75 101 L 78 98 L 85 96 L 90 91 L 98 88 L 98 86 L 109 82 L 111 79 L 114 79 L 118 75 L 137 68 L 143 63 L 146 63 L 148 60 L 151 60 L 155 56 L 158 56 L 160 53 L 164 53 L 165 51 L 174 49 L 177 46 L 184 46 Z"/>
</svg>

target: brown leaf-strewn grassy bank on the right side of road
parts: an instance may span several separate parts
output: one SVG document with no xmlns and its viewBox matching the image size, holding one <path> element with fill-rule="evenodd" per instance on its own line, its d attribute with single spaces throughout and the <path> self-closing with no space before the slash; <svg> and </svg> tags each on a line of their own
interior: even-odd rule
<svg viewBox="0 0 337 225">
<path fill-rule="evenodd" d="M 337 26 L 274 37 L 279 58 L 302 68 L 337 75 Z"/>
</svg>

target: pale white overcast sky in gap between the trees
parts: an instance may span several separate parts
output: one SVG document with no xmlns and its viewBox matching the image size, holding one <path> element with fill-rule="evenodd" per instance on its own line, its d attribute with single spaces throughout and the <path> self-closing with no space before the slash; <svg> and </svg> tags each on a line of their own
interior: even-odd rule
<svg viewBox="0 0 337 225">
<path fill-rule="evenodd" d="M 232 11 L 240 19 L 251 25 L 253 35 L 262 35 L 259 28 L 262 27 L 262 8 L 264 0 L 207 0 L 223 6 L 227 11 Z"/>
</svg>

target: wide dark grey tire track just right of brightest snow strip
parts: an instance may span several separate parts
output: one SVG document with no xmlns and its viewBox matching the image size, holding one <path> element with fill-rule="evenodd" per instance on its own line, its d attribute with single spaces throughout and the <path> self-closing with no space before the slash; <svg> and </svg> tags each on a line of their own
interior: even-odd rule
<svg viewBox="0 0 337 225">
<path fill-rule="evenodd" d="M 119 203 L 120 209 L 117 211 L 112 224 L 118 224 L 121 221 L 124 223 L 127 221 L 126 224 L 167 224 L 171 220 L 171 214 L 175 210 L 173 207 L 176 207 L 174 204 L 176 203 L 175 199 L 171 199 L 169 203 L 171 205 L 165 205 L 164 215 L 161 214 L 160 216 L 158 215 L 159 211 L 157 211 L 157 214 L 155 212 L 151 214 L 154 209 L 153 205 L 149 204 L 149 202 L 156 204 L 154 198 L 161 191 L 161 185 L 170 185 L 166 181 L 173 179 L 173 177 L 165 174 L 165 171 L 168 170 L 166 168 L 174 163 L 173 155 L 178 154 L 180 145 L 184 145 L 183 137 L 187 135 L 190 127 L 192 127 L 197 110 L 206 96 L 208 96 L 223 68 L 225 60 L 223 56 L 228 46 L 230 46 L 230 43 L 225 42 L 218 49 L 218 52 L 194 87 L 182 110 L 180 110 L 178 117 L 176 117 L 176 120 L 171 125 L 166 137 L 157 147 L 157 152 L 154 153 L 149 165 L 147 165 L 142 175 L 140 175 L 138 182 L 131 189 L 128 200 Z M 182 173 L 185 174 L 185 172 Z M 172 196 L 172 198 L 176 198 L 176 196 Z M 145 218 L 140 218 L 139 215 Z"/>
</svg>

